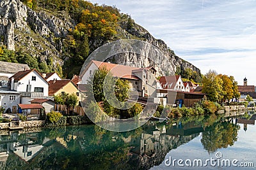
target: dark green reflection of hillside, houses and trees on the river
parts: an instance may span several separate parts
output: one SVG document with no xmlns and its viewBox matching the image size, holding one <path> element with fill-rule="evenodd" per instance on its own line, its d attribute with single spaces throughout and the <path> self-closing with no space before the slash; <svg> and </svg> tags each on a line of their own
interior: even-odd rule
<svg viewBox="0 0 256 170">
<path fill-rule="evenodd" d="M 38 132 L 0 131 L 0 169 L 150 169 L 166 154 L 202 136 L 207 152 L 237 141 L 244 117 L 198 116 L 172 122 L 147 122 L 134 131 L 111 132 L 95 125 L 39 129 Z M 246 128 L 245 128 L 246 127 Z"/>
</svg>

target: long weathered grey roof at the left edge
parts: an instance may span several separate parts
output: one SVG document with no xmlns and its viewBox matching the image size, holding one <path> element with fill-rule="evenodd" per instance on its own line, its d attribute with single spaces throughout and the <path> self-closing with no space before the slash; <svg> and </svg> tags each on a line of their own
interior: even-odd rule
<svg viewBox="0 0 256 170">
<path fill-rule="evenodd" d="M 0 61 L 0 73 L 15 74 L 19 71 L 30 69 L 28 64 L 18 64 L 13 62 Z"/>
</svg>

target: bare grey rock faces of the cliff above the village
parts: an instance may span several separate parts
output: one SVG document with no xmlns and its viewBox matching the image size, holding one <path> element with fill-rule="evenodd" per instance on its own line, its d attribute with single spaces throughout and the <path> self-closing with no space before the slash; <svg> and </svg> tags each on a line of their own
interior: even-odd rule
<svg viewBox="0 0 256 170">
<path fill-rule="evenodd" d="M 70 57 L 68 53 L 64 54 L 62 46 L 65 39 L 68 39 L 68 30 L 73 29 L 77 23 L 67 12 L 49 11 L 43 8 L 34 11 L 20 0 L 2 0 L 0 17 L 0 42 L 9 50 L 28 53 L 39 62 L 45 62 L 52 67 L 62 66 L 63 60 Z M 181 69 L 189 67 L 200 73 L 200 69 L 180 59 L 164 41 L 155 39 L 140 25 L 134 23 L 131 27 L 127 21 L 119 22 L 119 25 L 120 28 L 117 31 L 119 38 L 141 39 L 162 50 L 164 56 L 157 59 L 161 63 L 158 69 L 159 75 L 174 74 L 177 67 Z M 91 49 L 100 44 L 102 42 L 90 42 Z M 116 63 L 126 62 L 136 67 L 154 66 L 147 57 L 136 54 L 125 53 L 113 57 Z"/>
</svg>

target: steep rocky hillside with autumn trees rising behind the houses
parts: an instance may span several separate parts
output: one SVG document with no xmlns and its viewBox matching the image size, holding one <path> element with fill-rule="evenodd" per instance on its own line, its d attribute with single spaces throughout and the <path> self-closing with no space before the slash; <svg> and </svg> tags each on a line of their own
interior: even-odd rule
<svg viewBox="0 0 256 170">
<path fill-rule="evenodd" d="M 70 78 L 93 50 L 122 38 L 141 39 L 159 47 L 163 59 L 159 73 L 180 73 L 201 81 L 200 69 L 180 59 L 164 41 L 155 39 L 129 15 L 111 6 L 81 0 L 0 1 L 0 60 L 20 62 L 40 71 L 57 71 Z M 121 54 L 115 62 L 136 61 L 147 67 L 145 57 Z"/>
</svg>

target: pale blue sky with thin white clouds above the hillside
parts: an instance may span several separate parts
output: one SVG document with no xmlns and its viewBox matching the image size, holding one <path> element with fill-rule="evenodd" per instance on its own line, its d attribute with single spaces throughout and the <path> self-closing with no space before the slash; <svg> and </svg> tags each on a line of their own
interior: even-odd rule
<svg viewBox="0 0 256 170">
<path fill-rule="evenodd" d="M 90 0 L 131 15 L 175 54 L 201 69 L 256 85 L 255 0 Z"/>
</svg>

